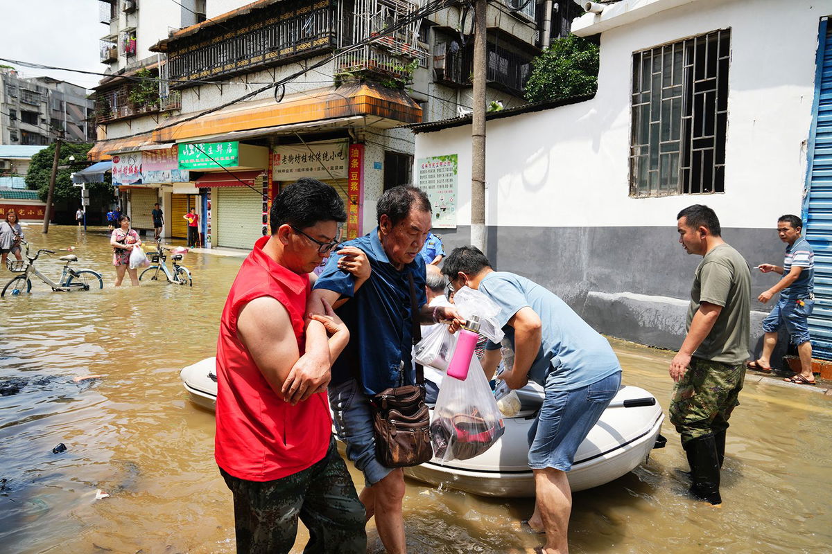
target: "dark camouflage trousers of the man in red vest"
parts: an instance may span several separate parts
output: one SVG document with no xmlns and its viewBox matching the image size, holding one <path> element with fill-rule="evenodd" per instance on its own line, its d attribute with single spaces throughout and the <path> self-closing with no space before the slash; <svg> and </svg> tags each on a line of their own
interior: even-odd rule
<svg viewBox="0 0 832 554">
<path fill-rule="evenodd" d="M 285 478 L 263 483 L 235 478 L 220 468 L 234 493 L 237 552 L 289 552 L 298 518 L 309 529 L 304 554 L 364 554 L 364 506 L 331 439 L 324 459 Z"/>
</svg>

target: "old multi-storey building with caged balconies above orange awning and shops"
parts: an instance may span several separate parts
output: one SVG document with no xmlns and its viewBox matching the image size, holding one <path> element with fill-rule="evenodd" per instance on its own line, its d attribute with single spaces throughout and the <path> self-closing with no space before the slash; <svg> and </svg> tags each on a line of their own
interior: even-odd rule
<svg viewBox="0 0 832 554">
<path fill-rule="evenodd" d="M 404 125 L 473 104 L 473 13 L 461 3 L 425 17 L 411 0 L 181 3 L 102 0 L 112 76 L 97 87 L 91 157 L 113 160 L 128 213 L 141 207 L 136 228 L 159 201 L 166 235 L 184 236 L 179 214 L 196 207 L 206 244 L 250 248 L 274 194 L 309 176 L 341 192 L 346 234 L 366 233 L 376 199 L 412 181 Z M 489 3 L 489 102 L 524 103 L 542 9 Z"/>
</svg>

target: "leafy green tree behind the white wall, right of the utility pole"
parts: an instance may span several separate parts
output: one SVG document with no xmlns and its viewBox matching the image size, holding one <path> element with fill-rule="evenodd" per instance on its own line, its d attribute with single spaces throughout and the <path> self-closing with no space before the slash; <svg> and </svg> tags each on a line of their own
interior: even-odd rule
<svg viewBox="0 0 832 554">
<path fill-rule="evenodd" d="M 526 100 L 541 102 L 595 94 L 598 88 L 598 46 L 569 35 L 552 43 L 532 60 Z"/>
</svg>

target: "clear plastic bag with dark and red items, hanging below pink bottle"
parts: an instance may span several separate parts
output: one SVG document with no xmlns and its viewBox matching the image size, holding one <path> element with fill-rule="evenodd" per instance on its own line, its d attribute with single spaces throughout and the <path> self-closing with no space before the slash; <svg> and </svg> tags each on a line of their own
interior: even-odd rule
<svg viewBox="0 0 832 554">
<path fill-rule="evenodd" d="M 433 456 L 443 462 L 478 456 L 503 436 L 503 416 L 477 356 L 465 380 L 447 375 L 442 380 L 433 416 Z"/>
</svg>

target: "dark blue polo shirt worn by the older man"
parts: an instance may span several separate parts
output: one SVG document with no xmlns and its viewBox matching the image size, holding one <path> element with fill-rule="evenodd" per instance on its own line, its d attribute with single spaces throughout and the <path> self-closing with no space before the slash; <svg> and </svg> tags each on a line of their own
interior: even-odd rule
<svg viewBox="0 0 832 554">
<path fill-rule="evenodd" d="M 333 254 L 314 284 L 316 289 L 351 298 L 336 310 L 349 329 L 349 344 L 332 365 L 331 383 L 338 385 L 360 373 L 368 395 L 398 386 L 400 375 L 402 384 L 412 385 L 415 371 L 410 359 L 413 343 L 408 274 L 413 275 L 416 304 L 421 308 L 427 303 L 424 260 L 417 256 L 402 271 L 397 270 L 381 246 L 379 228 L 344 246 L 364 251 L 372 273 L 355 292 L 355 277 L 338 268 L 340 256 Z"/>
</svg>

